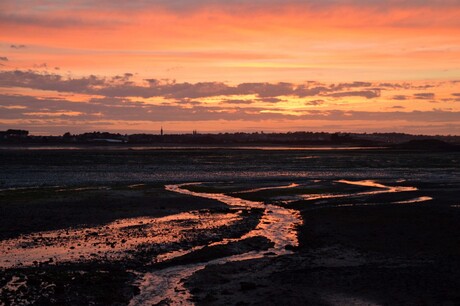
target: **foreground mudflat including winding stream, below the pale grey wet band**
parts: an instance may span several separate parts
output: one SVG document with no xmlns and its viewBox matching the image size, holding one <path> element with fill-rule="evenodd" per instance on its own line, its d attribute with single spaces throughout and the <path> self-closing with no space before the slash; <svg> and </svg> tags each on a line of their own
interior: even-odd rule
<svg viewBox="0 0 460 306">
<path fill-rule="evenodd" d="M 9 190 L 0 302 L 456 305 L 458 194 L 387 177 Z"/>
</svg>

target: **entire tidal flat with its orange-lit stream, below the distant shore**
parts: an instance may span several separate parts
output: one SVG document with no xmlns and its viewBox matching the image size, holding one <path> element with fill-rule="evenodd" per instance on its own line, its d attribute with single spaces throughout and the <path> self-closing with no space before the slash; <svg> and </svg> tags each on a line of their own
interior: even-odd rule
<svg viewBox="0 0 460 306">
<path fill-rule="evenodd" d="M 0 150 L 5 305 L 460 304 L 460 153 Z"/>
</svg>

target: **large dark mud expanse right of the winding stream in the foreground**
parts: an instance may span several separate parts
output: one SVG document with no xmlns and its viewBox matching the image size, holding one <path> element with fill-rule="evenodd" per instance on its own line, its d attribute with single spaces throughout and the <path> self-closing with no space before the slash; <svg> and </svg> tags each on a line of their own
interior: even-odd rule
<svg viewBox="0 0 460 306">
<path fill-rule="evenodd" d="M 208 266 L 186 286 L 197 305 L 459 305 L 460 210 L 450 195 L 460 188 L 424 187 L 434 200 L 297 202 L 297 252 Z"/>
</svg>

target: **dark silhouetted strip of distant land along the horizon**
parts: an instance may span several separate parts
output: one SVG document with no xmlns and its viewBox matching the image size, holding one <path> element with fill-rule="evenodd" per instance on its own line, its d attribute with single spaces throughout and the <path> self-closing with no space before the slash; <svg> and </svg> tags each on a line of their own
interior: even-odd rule
<svg viewBox="0 0 460 306">
<path fill-rule="evenodd" d="M 457 135 L 411 135 L 404 133 L 327 133 L 327 132 L 237 132 L 166 134 L 120 134 L 89 132 L 60 136 L 31 135 L 27 130 L 0 131 L 0 145 L 287 145 L 287 146 L 392 146 L 407 149 L 455 149 L 460 147 Z"/>
</svg>

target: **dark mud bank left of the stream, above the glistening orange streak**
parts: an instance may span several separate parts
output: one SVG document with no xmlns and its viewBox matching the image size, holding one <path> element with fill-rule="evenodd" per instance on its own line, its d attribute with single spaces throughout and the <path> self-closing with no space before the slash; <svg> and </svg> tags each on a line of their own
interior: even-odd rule
<svg viewBox="0 0 460 306">
<path fill-rule="evenodd" d="M 91 227 L 122 218 L 161 217 L 225 205 L 166 192 L 164 184 L 45 186 L 0 190 L 0 239 Z"/>
</svg>

